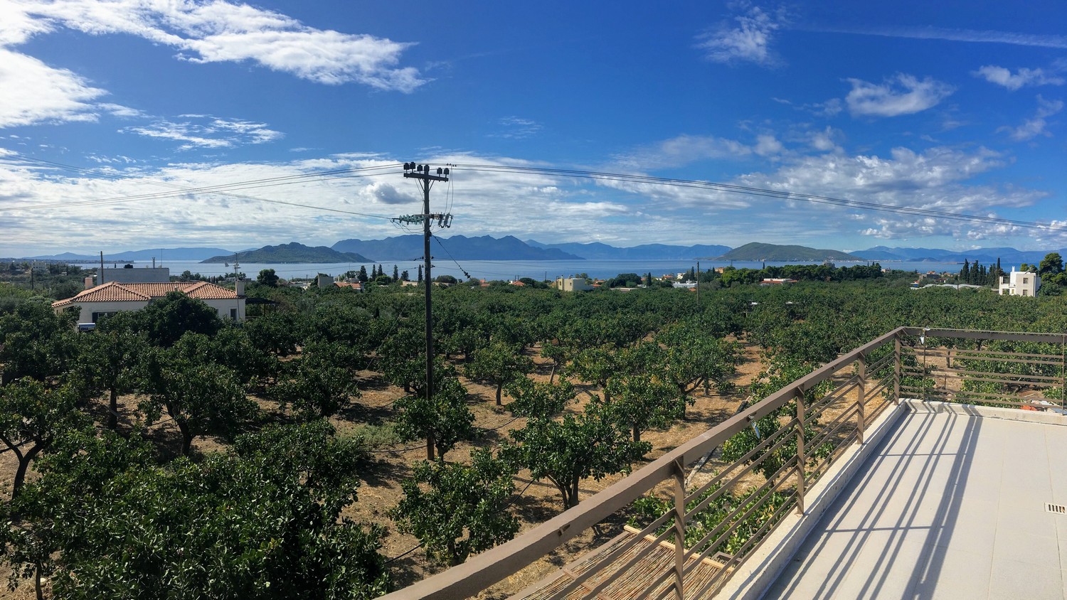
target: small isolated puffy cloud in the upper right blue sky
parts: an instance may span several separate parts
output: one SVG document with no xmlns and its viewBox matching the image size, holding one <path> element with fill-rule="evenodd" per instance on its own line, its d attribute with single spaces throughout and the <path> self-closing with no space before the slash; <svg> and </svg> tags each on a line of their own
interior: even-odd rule
<svg viewBox="0 0 1067 600">
<path fill-rule="evenodd" d="M 898 74 L 881 84 L 849 79 L 853 90 L 845 97 L 854 116 L 898 116 L 918 113 L 937 106 L 955 88 L 947 83 Z"/>
</svg>

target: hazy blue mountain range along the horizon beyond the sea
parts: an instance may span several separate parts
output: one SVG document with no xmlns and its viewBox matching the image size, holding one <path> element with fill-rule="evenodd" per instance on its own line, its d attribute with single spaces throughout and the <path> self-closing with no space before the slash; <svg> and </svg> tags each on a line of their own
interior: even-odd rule
<svg viewBox="0 0 1067 600">
<path fill-rule="evenodd" d="M 437 258 L 456 260 L 768 260 L 768 261 L 935 261 L 993 263 L 1000 258 L 1004 264 L 1023 262 L 1038 263 L 1050 252 L 1067 256 L 1067 248 L 1058 250 L 1018 250 L 1009 247 L 976 248 L 973 250 L 945 250 L 940 248 L 902 248 L 875 246 L 865 250 L 843 253 L 817 249 L 807 246 L 750 243 L 738 248 L 723 245 L 678 246 L 667 244 L 643 244 L 620 248 L 600 242 L 545 244 L 536 240 L 522 241 L 512 236 L 492 238 L 481 236 L 467 238 L 452 236 L 432 241 L 430 254 Z M 416 260 L 423 256 L 420 234 L 398 236 L 384 240 L 341 240 L 331 247 L 310 247 L 292 242 L 257 249 L 227 250 L 210 247 L 152 248 L 105 254 L 105 262 L 145 262 L 153 258 L 161 261 L 198 260 L 203 262 L 232 262 L 234 255 L 240 255 L 241 262 L 384 262 Z M 27 257 L 20 260 L 57 260 L 89 262 L 99 260 L 99 256 L 63 253 L 58 255 Z M 163 262 L 165 264 L 165 262 Z"/>
</svg>

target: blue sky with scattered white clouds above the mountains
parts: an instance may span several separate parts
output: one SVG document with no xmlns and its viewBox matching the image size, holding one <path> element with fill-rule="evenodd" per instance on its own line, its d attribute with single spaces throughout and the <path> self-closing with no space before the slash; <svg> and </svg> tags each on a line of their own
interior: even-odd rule
<svg viewBox="0 0 1067 600">
<path fill-rule="evenodd" d="M 405 161 L 504 167 L 434 188 L 446 237 L 1060 248 L 1065 23 L 1061 0 L 0 0 L 0 256 L 400 234 L 383 216 L 420 194 L 372 167 Z"/>
</svg>

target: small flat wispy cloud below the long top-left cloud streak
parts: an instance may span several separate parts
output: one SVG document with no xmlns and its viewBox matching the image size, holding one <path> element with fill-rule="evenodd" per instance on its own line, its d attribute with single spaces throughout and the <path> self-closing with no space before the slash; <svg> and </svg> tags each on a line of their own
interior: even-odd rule
<svg viewBox="0 0 1067 600">
<path fill-rule="evenodd" d="M 244 144 L 264 144 L 282 139 L 278 131 L 266 124 L 240 119 L 222 119 L 209 115 L 181 115 L 188 120 L 174 123 L 159 119 L 149 125 L 130 126 L 121 129 L 125 133 L 137 133 L 145 137 L 181 142 L 179 150 L 193 148 L 232 148 Z M 201 123 L 196 123 L 196 121 Z"/>
</svg>

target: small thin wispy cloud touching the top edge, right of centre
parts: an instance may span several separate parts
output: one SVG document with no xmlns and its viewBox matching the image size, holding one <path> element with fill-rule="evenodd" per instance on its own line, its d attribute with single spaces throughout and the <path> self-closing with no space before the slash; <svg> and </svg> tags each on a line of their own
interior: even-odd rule
<svg viewBox="0 0 1067 600">
<path fill-rule="evenodd" d="M 747 10 L 733 18 L 734 23 L 722 23 L 697 36 L 697 48 L 704 51 L 704 58 L 716 63 L 781 64 L 770 45 L 776 32 L 786 22 L 784 13 L 767 12 L 747 2 L 740 6 Z"/>
</svg>

